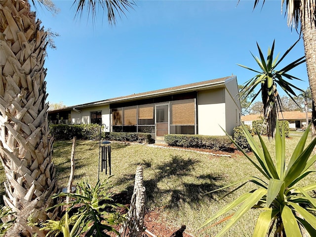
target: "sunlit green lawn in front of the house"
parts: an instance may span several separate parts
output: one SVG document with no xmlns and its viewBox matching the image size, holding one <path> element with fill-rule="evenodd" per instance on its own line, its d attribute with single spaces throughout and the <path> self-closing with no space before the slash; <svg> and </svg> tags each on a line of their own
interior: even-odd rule
<svg viewBox="0 0 316 237">
<path fill-rule="evenodd" d="M 264 138 L 270 148 L 274 141 Z M 286 139 L 287 157 L 291 156 L 297 137 Z M 70 174 L 71 141 L 54 143 L 53 161 L 57 167 L 57 180 L 60 187 L 67 185 Z M 77 141 L 75 182 L 88 180 L 95 183 L 98 177 L 99 142 Z M 139 144 L 112 144 L 112 180 L 116 190 L 133 189 L 136 166 L 144 167 L 144 183 L 147 191 L 147 208 L 159 210 L 170 225 L 187 225 L 187 231 L 195 236 L 213 236 L 222 227 L 209 228 L 196 233 L 198 226 L 238 194 L 248 191 L 252 185 L 245 185 L 233 195 L 217 201 L 224 192 L 205 194 L 244 177 L 261 177 L 250 162 L 242 155 L 213 157 L 192 151 L 180 151 L 149 147 Z M 0 171 L 2 172 L 2 171 Z M 2 176 L 0 176 L 2 177 Z M 103 180 L 107 176 L 100 174 Z M 305 183 L 314 182 L 310 176 Z M 227 189 L 225 193 L 229 191 Z M 249 212 L 226 236 L 252 236 L 258 211 Z"/>
</svg>

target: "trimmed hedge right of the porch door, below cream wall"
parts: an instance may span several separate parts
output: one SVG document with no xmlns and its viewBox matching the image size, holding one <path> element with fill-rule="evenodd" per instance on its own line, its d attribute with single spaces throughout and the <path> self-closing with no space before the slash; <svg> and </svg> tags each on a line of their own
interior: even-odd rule
<svg viewBox="0 0 316 237">
<path fill-rule="evenodd" d="M 227 136 L 168 134 L 164 135 L 164 141 L 174 147 L 205 148 L 215 151 L 229 151 L 232 145 Z"/>
</svg>

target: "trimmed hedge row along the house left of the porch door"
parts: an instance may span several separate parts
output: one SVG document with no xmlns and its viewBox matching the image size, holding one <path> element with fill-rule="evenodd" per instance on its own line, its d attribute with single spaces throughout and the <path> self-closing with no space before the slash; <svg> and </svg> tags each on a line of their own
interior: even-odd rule
<svg viewBox="0 0 316 237">
<path fill-rule="evenodd" d="M 100 125 L 98 124 L 51 124 L 50 134 L 57 141 L 71 140 L 74 136 L 77 139 L 98 140 L 100 135 Z M 146 141 L 152 142 L 152 135 L 149 133 L 132 133 L 132 132 L 102 132 L 102 139 L 113 141 Z"/>
</svg>

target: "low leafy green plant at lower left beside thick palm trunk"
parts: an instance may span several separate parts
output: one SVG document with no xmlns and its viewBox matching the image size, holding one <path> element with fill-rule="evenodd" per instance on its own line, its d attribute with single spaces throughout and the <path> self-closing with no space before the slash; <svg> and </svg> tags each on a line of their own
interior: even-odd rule
<svg viewBox="0 0 316 237">
<path fill-rule="evenodd" d="M 113 225 L 122 222 L 123 217 L 109 210 L 123 205 L 113 202 L 112 187 L 108 179 L 102 183 L 98 181 L 94 187 L 87 182 L 80 182 L 75 194 L 53 195 L 52 198 L 70 197 L 70 201 L 68 204 L 55 205 L 66 207 L 65 214 L 59 221 L 48 220 L 41 230 L 48 231 L 47 237 L 57 237 L 60 233 L 63 237 L 79 237 L 82 234 L 85 237 L 110 237 L 104 231 L 118 234 Z"/>
</svg>

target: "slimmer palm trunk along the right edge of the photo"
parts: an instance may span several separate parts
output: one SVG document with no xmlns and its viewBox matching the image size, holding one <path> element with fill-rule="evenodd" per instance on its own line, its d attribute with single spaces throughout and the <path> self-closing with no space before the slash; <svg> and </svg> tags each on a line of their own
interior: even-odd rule
<svg viewBox="0 0 316 237">
<path fill-rule="evenodd" d="M 308 4 L 302 4 L 302 1 L 300 8 L 301 30 L 304 40 L 307 74 L 313 96 L 313 108 L 316 108 L 316 22 L 315 16 L 311 15 L 308 10 Z M 316 117 L 314 115 L 316 115 L 316 111 L 313 109 L 312 139 L 316 137 Z"/>
</svg>

